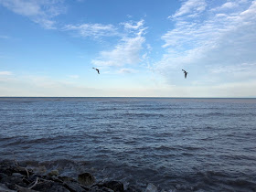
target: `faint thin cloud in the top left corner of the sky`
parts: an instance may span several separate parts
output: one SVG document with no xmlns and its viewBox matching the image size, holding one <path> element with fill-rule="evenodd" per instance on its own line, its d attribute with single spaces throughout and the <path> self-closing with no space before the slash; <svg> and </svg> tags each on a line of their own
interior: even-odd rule
<svg viewBox="0 0 256 192">
<path fill-rule="evenodd" d="M 65 12 L 63 0 L 0 0 L 0 5 L 5 6 L 14 13 L 27 16 L 32 21 L 45 28 L 55 28 L 54 16 Z"/>
</svg>

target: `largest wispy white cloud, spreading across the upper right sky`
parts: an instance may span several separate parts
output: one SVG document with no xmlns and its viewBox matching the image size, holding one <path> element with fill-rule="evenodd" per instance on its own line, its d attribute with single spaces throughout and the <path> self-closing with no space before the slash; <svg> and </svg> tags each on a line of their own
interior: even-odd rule
<svg viewBox="0 0 256 192">
<path fill-rule="evenodd" d="M 188 0 L 184 5 L 191 2 Z M 169 75 L 165 71 L 177 67 L 205 70 L 206 65 L 233 66 L 256 60 L 256 1 L 228 1 L 208 7 L 207 13 L 197 18 L 187 17 L 185 13 L 191 9 L 185 10 L 176 12 L 175 17 L 179 17 L 173 20 L 175 28 L 162 36 L 166 52 L 155 63 L 155 69 L 167 79 Z"/>
</svg>

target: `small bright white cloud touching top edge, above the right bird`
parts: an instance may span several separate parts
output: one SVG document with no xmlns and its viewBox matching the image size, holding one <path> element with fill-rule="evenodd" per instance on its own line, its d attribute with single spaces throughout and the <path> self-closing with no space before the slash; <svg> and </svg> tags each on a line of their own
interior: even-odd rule
<svg viewBox="0 0 256 192">
<path fill-rule="evenodd" d="M 197 16 L 199 13 L 205 10 L 207 4 L 205 0 L 188 0 L 185 2 L 179 10 L 176 11 L 175 15 L 169 16 L 169 18 L 176 18 L 179 16 Z"/>
</svg>

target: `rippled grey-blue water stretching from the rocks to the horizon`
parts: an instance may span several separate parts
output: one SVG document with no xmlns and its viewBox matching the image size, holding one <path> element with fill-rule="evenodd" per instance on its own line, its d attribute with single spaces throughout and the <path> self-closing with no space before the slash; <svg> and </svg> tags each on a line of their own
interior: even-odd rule
<svg viewBox="0 0 256 192">
<path fill-rule="evenodd" d="M 159 190 L 256 191 L 256 99 L 0 98 L 0 159 Z"/>
</svg>

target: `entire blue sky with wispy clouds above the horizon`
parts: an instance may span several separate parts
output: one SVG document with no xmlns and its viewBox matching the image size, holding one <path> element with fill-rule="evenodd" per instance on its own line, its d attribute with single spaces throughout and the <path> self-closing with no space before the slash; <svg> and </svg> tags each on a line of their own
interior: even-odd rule
<svg viewBox="0 0 256 192">
<path fill-rule="evenodd" d="M 0 0 L 0 96 L 256 97 L 255 31 L 256 0 Z"/>
</svg>

